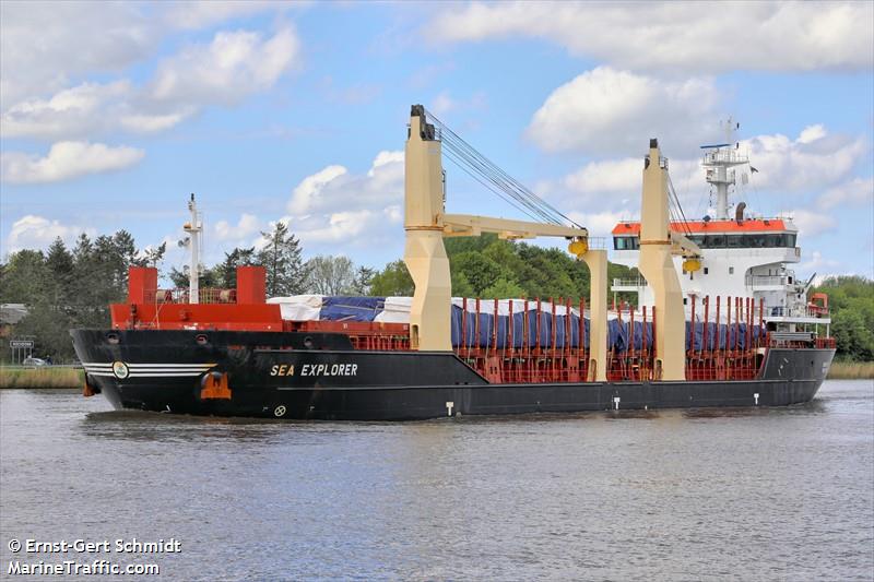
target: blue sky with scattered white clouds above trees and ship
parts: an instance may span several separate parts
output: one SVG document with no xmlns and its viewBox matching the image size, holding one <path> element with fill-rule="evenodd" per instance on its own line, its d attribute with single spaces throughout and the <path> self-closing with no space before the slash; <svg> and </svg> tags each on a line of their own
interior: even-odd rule
<svg viewBox="0 0 874 582">
<path fill-rule="evenodd" d="M 874 277 L 870 1 L 3 1 L 0 256 L 125 228 L 180 268 L 193 192 L 206 264 L 283 221 L 381 268 L 412 104 L 592 236 L 639 216 L 650 138 L 712 214 L 731 117 L 758 170 L 731 202 L 794 217 L 799 276 Z M 444 165 L 448 212 L 527 218 Z"/>
</svg>

